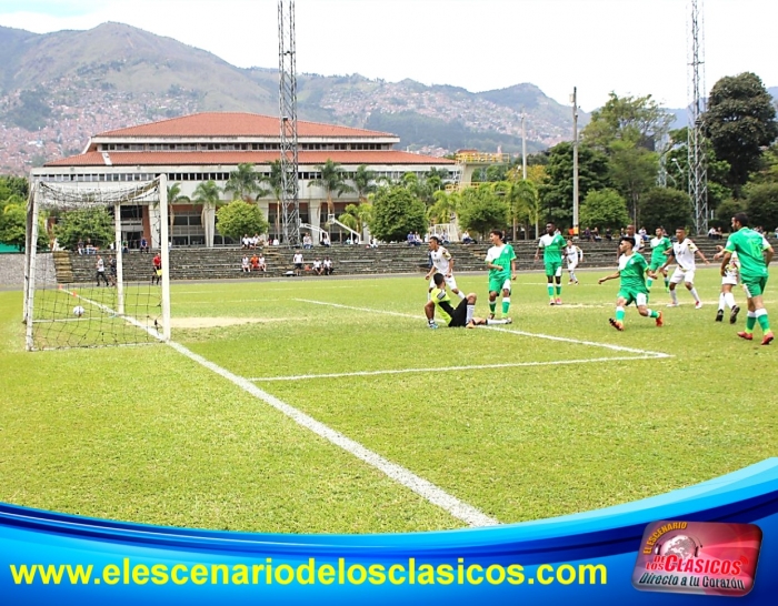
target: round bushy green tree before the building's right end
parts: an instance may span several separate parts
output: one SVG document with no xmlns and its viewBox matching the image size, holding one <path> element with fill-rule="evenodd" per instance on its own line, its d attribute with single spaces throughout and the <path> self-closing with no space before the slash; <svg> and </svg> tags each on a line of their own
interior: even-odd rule
<svg viewBox="0 0 778 606">
<path fill-rule="evenodd" d="M 425 232 L 425 204 L 402 185 L 381 188 L 372 201 L 370 232 L 379 240 L 401 242 L 408 232 Z"/>
</svg>

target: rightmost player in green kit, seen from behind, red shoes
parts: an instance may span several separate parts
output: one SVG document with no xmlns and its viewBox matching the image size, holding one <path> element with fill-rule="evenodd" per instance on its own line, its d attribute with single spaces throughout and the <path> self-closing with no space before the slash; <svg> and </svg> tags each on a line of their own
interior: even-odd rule
<svg viewBox="0 0 778 606">
<path fill-rule="evenodd" d="M 759 322 L 762 332 L 761 344 L 769 345 L 775 336 L 770 330 L 762 295 L 767 285 L 767 266 L 772 261 L 774 251 L 759 232 L 748 228 L 748 215 L 742 212 L 732 216 L 732 233 L 727 240 L 721 259 L 721 276 L 727 274 L 732 253 L 738 253 L 740 282 L 748 300 L 746 330 L 739 332 L 738 336 L 746 341 L 754 340 L 754 326 Z"/>
</svg>

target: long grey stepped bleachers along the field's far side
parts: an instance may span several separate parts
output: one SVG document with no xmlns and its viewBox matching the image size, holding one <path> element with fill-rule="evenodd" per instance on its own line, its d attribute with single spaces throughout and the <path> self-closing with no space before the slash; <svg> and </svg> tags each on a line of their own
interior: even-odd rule
<svg viewBox="0 0 778 606">
<path fill-rule="evenodd" d="M 702 253 L 711 259 L 716 253 L 716 244 L 726 241 L 711 241 L 707 238 L 695 240 Z M 537 242 L 533 240 L 520 240 L 512 243 L 517 256 L 519 271 L 541 270 L 542 262 L 535 263 Z M 579 242 L 584 251 L 582 267 L 615 267 L 616 242 Z M 478 243 L 463 245 L 451 243 L 447 249 L 455 259 L 456 272 L 486 271 L 483 260 L 490 244 Z M 259 253 L 259 251 L 257 251 Z M 267 272 L 245 273 L 241 270 L 241 260 L 248 253 L 240 248 L 217 249 L 172 249 L 170 251 L 170 277 L 172 280 L 263 280 L 267 277 L 282 277 L 287 272 L 293 271 L 293 251 L 286 248 L 268 246 L 262 250 L 268 265 Z M 425 273 L 429 267 L 427 245 L 408 246 L 401 244 L 383 244 L 377 249 L 366 249 L 363 245 L 345 246 L 333 245 L 329 249 L 315 246 L 312 250 L 303 250 L 305 264 L 312 265 L 315 259 L 322 260 L 329 256 L 332 260 L 335 275 L 372 275 L 387 273 Z M 106 266 L 112 253 L 101 253 L 106 260 Z M 650 249 L 644 249 L 646 259 L 650 257 Z M 56 252 L 58 282 L 92 282 L 94 280 L 96 255 L 79 255 L 71 252 Z M 151 280 L 151 260 L 154 251 L 149 254 L 140 254 L 132 251 L 123 256 L 124 280 L 129 282 Z M 542 257 L 542 255 L 541 255 Z M 303 272 L 305 275 L 313 275 L 312 272 Z M 321 277 L 326 280 L 326 276 Z"/>
</svg>

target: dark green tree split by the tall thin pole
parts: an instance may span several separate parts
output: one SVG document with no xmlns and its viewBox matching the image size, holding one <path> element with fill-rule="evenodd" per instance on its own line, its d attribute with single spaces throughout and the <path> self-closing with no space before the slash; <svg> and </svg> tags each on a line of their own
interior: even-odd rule
<svg viewBox="0 0 778 606">
<path fill-rule="evenodd" d="M 578 147 L 578 194 L 610 186 L 608 158 L 588 145 Z M 572 224 L 572 144 L 559 143 L 548 153 L 546 180 L 539 189 L 545 219 L 560 228 Z"/>
</svg>

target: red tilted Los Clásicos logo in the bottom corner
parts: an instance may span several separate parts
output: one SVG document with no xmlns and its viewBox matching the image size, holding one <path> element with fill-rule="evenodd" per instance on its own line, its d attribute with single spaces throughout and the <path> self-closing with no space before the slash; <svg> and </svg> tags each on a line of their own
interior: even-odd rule
<svg viewBox="0 0 778 606">
<path fill-rule="evenodd" d="M 761 529 L 754 524 L 655 522 L 632 572 L 641 592 L 740 597 L 754 588 Z"/>
</svg>

